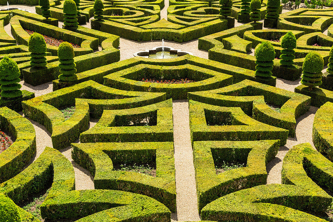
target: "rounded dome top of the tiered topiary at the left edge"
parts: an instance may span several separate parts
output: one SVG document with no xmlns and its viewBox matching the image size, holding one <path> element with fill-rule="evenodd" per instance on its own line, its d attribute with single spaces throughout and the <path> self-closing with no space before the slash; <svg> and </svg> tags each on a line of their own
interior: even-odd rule
<svg viewBox="0 0 333 222">
<path fill-rule="evenodd" d="M 0 79 L 12 80 L 20 77 L 20 69 L 17 63 L 5 56 L 0 61 Z"/>
</svg>

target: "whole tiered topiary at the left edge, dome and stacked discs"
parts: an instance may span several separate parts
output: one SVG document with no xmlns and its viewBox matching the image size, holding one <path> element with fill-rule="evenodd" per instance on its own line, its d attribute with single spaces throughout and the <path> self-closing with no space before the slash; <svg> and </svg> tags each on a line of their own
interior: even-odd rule
<svg viewBox="0 0 333 222">
<path fill-rule="evenodd" d="M 11 99 L 22 96 L 20 69 L 17 63 L 7 56 L 0 61 L 1 98 Z"/>
</svg>

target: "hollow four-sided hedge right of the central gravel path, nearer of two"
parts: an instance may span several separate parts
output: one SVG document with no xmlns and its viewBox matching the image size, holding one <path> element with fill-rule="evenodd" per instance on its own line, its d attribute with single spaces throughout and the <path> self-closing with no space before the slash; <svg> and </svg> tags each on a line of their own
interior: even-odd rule
<svg viewBox="0 0 333 222">
<path fill-rule="evenodd" d="M 199 141 L 193 143 L 199 211 L 213 200 L 237 190 L 266 184 L 266 165 L 280 146 L 279 140 Z M 216 175 L 214 162 L 247 163 Z"/>
</svg>

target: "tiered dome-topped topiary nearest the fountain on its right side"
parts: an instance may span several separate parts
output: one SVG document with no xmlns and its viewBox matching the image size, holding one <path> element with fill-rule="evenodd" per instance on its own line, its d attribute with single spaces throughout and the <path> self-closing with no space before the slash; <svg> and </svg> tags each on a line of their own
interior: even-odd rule
<svg viewBox="0 0 333 222">
<path fill-rule="evenodd" d="M 273 60 L 275 58 L 275 51 L 271 43 L 261 43 L 255 51 L 255 76 L 268 79 L 272 76 Z"/>
</svg>

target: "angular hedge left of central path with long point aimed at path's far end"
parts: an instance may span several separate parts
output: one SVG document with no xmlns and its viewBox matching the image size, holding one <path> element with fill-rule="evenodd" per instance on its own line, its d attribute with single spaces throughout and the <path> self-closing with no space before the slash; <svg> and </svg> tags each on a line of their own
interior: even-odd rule
<svg viewBox="0 0 333 222">
<path fill-rule="evenodd" d="M 90 80 L 24 101 L 22 106 L 26 116 L 52 133 L 53 147 L 63 149 L 74 142 L 81 132 L 89 129 L 89 116 L 98 118 L 104 109 L 128 109 L 165 99 L 165 93 L 127 92 Z M 75 113 L 65 120 L 58 108 L 74 104 Z"/>
</svg>

